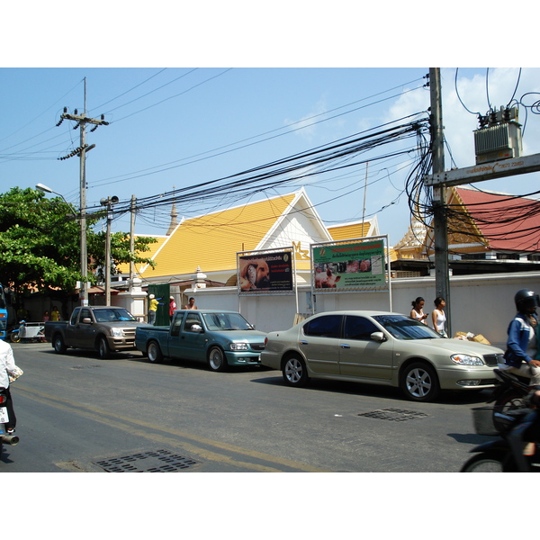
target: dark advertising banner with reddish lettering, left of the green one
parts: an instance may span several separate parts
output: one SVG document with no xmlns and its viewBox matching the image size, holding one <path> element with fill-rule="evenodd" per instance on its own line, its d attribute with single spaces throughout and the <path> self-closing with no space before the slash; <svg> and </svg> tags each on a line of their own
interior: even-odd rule
<svg viewBox="0 0 540 540">
<path fill-rule="evenodd" d="M 293 252 L 238 256 L 238 288 L 242 294 L 293 292 Z"/>
</svg>

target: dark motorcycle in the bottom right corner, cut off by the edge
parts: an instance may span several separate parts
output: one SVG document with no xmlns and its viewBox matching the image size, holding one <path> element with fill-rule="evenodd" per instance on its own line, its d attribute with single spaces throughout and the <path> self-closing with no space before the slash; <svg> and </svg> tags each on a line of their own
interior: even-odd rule
<svg viewBox="0 0 540 540">
<path fill-rule="evenodd" d="M 475 453 L 461 473 L 537 473 L 540 472 L 540 386 L 528 393 L 527 409 L 494 412 L 499 421 L 500 437 L 475 446 Z M 474 410 L 482 411 L 479 408 Z M 479 435 L 488 435 L 482 422 L 475 418 Z"/>
</svg>

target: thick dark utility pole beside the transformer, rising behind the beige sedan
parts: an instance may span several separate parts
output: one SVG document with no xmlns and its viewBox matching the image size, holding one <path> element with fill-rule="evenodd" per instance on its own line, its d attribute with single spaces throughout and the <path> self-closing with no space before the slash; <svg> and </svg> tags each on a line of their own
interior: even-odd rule
<svg viewBox="0 0 540 540">
<path fill-rule="evenodd" d="M 443 126 L 443 100 L 439 67 L 429 68 L 429 93 L 431 101 L 431 152 L 434 175 L 445 171 L 445 138 Z M 450 278 L 448 269 L 448 232 L 446 219 L 446 185 L 433 187 L 433 224 L 435 236 L 435 290 L 446 300 L 446 328 L 452 336 L 450 310 Z"/>
</svg>

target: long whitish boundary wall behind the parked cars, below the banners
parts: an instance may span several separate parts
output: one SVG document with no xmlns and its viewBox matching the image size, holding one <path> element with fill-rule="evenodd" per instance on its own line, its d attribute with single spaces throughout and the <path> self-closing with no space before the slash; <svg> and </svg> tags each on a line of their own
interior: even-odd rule
<svg viewBox="0 0 540 540">
<path fill-rule="evenodd" d="M 450 278 L 452 332 L 482 334 L 491 344 L 505 347 L 509 321 L 515 314 L 514 295 L 519 289 L 540 293 L 540 272 L 466 275 Z M 263 332 L 284 330 L 293 326 L 296 310 L 294 295 L 238 297 L 236 287 L 199 289 L 193 292 L 200 309 L 240 311 Z M 435 307 L 435 277 L 392 280 L 392 311 L 409 314 L 411 302 L 422 296 L 424 311 Z M 308 305 L 311 286 L 298 290 L 298 312 L 311 312 Z M 318 294 L 316 311 L 382 310 L 390 311 L 388 293 Z M 430 319 L 429 319 L 430 320 Z"/>
</svg>

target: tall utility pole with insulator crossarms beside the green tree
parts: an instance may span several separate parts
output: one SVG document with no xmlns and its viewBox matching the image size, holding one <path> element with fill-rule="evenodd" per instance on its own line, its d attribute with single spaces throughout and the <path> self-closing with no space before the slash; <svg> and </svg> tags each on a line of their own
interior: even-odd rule
<svg viewBox="0 0 540 540">
<path fill-rule="evenodd" d="M 58 121 L 57 126 L 59 126 L 64 120 L 73 120 L 76 121 L 76 128 L 80 127 L 81 137 L 80 137 L 80 146 L 76 148 L 71 154 L 66 157 L 60 157 L 59 159 L 67 159 L 67 157 L 78 156 L 80 157 L 80 215 L 79 220 L 81 224 L 81 275 L 83 276 L 82 291 L 81 291 L 81 300 L 82 305 L 88 305 L 88 289 L 87 289 L 87 275 L 88 275 L 88 255 L 86 248 L 86 151 L 94 148 L 95 145 L 88 146 L 86 144 L 86 124 L 94 124 L 93 131 L 98 128 L 98 126 L 107 126 L 109 125 L 108 121 L 104 121 L 104 115 L 101 115 L 101 120 L 95 120 L 94 118 L 86 118 L 86 77 L 85 77 L 85 110 L 82 114 L 78 114 L 75 110 L 75 114 L 68 114 L 67 107 L 64 107 L 64 113 L 60 116 L 60 121 Z"/>
</svg>

